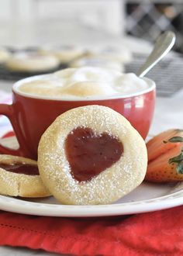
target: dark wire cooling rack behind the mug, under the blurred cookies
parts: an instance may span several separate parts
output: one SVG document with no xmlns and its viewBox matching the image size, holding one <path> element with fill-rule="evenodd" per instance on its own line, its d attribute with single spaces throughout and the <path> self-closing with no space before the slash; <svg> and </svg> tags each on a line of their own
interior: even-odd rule
<svg viewBox="0 0 183 256">
<path fill-rule="evenodd" d="M 126 72 L 135 73 L 146 59 L 147 55 L 135 54 L 133 61 L 126 64 Z M 57 70 L 65 67 L 67 66 L 60 65 Z M 50 70 L 49 73 L 57 70 Z M 40 73 L 12 72 L 4 65 L 0 65 L 0 80 L 18 81 L 36 74 Z M 41 72 L 41 74 L 45 73 Z M 147 78 L 151 78 L 156 82 L 158 96 L 170 97 L 183 88 L 183 57 L 181 55 L 165 57 L 147 74 Z"/>
</svg>

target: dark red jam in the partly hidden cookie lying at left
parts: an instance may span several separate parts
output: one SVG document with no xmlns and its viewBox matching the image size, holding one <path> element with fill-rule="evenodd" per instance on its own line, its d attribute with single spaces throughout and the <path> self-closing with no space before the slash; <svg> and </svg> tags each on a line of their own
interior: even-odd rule
<svg viewBox="0 0 183 256">
<path fill-rule="evenodd" d="M 15 164 L 0 164 L 0 168 L 5 169 L 5 171 L 11 171 L 22 175 L 40 175 L 37 166 L 32 164 L 18 162 Z"/>
</svg>

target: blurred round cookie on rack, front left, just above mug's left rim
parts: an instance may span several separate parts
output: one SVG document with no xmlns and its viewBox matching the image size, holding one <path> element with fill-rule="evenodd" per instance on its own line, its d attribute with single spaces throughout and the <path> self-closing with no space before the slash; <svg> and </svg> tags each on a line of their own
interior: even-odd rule
<svg viewBox="0 0 183 256">
<path fill-rule="evenodd" d="M 6 62 L 10 71 L 44 72 L 56 69 L 60 62 L 52 55 L 44 56 L 38 53 L 19 53 L 12 55 Z"/>
</svg>

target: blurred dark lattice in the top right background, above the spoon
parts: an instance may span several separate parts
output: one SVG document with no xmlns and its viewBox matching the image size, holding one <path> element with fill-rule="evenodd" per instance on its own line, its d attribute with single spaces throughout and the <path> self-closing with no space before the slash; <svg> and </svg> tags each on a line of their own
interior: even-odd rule
<svg viewBox="0 0 183 256">
<path fill-rule="evenodd" d="M 170 29 L 177 35 L 174 49 L 183 52 L 183 1 L 127 0 L 126 32 L 146 40 Z"/>
</svg>

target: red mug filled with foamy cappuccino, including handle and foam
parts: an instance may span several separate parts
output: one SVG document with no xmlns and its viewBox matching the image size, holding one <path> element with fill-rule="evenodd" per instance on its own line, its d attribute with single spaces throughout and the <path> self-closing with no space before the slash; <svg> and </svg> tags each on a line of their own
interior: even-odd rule
<svg viewBox="0 0 183 256">
<path fill-rule="evenodd" d="M 19 149 L 0 144 L 3 154 L 36 159 L 40 137 L 67 110 L 80 106 L 106 106 L 121 115 L 145 138 L 154 114 L 155 83 L 136 74 L 122 74 L 102 67 L 68 68 L 37 75 L 12 86 L 12 105 L 0 104 L 8 116 Z"/>
</svg>

